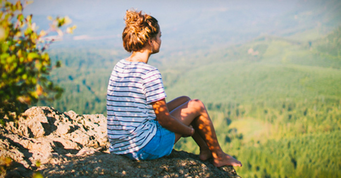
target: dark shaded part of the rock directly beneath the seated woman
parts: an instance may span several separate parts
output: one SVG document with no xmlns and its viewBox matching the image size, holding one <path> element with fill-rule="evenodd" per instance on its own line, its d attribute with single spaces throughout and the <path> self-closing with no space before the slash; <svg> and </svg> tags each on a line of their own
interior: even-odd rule
<svg viewBox="0 0 341 178">
<path fill-rule="evenodd" d="M 210 161 L 175 150 L 168 157 L 143 161 L 96 152 L 59 165 L 45 164 L 39 171 L 49 178 L 240 178 L 232 166 L 217 168 Z"/>
</svg>

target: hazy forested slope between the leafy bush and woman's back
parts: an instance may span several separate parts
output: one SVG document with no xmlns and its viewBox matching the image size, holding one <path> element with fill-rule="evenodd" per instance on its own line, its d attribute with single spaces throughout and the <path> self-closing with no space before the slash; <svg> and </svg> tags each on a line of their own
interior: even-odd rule
<svg viewBox="0 0 341 178">
<path fill-rule="evenodd" d="M 118 50 L 59 49 L 51 51 L 62 67 L 52 71 L 51 78 L 64 89 L 54 103 L 40 101 L 58 110 L 77 113 L 106 113 L 106 94 L 110 73 L 115 63 L 126 53 Z"/>
</svg>

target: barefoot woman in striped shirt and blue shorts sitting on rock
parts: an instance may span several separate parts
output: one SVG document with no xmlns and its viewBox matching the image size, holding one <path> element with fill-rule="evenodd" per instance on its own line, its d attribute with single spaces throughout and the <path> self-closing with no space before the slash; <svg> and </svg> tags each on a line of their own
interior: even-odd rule
<svg viewBox="0 0 341 178">
<path fill-rule="evenodd" d="M 199 158 L 213 157 L 217 167 L 242 166 L 221 149 L 204 104 L 187 96 L 166 102 L 160 72 L 150 65 L 161 46 L 160 26 L 150 15 L 128 10 L 122 38 L 126 51 L 111 74 L 107 92 L 110 152 L 133 160 L 170 155 L 181 137 L 191 136 L 200 147 Z"/>
</svg>

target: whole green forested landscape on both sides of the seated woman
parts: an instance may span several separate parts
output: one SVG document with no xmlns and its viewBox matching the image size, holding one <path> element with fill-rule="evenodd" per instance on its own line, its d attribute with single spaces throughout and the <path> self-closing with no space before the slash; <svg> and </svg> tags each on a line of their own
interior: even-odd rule
<svg viewBox="0 0 341 178">
<path fill-rule="evenodd" d="M 219 140 L 245 178 L 341 177 L 341 28 L 315 40 L 260 36 L 210 51 L 160 53 L 168 94 L 206 103 Z M 65 89 L 60 111 L 106 113 L 106 87 L 122 50 L 53 50 Z M 156 59 L 157 58 L 157 59 Z M 198 153 L 191 139 L 175 146 Z"/>
</svg>

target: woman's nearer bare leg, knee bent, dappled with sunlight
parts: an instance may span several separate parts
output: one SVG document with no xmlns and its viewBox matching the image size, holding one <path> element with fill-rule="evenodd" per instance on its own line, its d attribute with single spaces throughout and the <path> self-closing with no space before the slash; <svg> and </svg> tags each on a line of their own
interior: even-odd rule
<svg viewBox="0 0 341 178">
<path fill-rule="evenodd" d="M 182 121 L 182 123 L 193 126 L 195 132 L 198 133 L 201 140 L 203 140 L 208 146 L 215 166 L 242 166 L 240 161 L 226 154 L 221 149 L 212 121 L 208 116 L 208 112 L 204 104 L 200 100 L 190 100 L 181 106 L 174 108 L 170 114 Z M 180 134 L 175 134 L 175 142 L 177 142 L 180 138 Z M 199 142 L 197 142 L 198 145 L 201 144 L 199 146 L 203 146 L 203 148 L 205 147 L 202 145 L 202 141 L 198 139 L 197 135 L 195 135 L 193 139 L 195 139 L 195 142 Z"/>
</svg>

